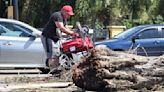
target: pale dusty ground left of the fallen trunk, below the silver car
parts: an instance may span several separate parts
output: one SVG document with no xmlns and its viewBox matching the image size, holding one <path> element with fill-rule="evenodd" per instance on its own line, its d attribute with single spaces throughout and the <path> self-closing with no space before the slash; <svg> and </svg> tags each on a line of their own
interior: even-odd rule
<svg viewBox="0 0 164 92">
<path fill-rule="evenodd" d="M 67 73 L 61 76 L 51 74 L 0 74 L 0 92 L 81 92 L 82 89 L 75 86 L 70 76 L 65 74 Z M 44 84 L 49 85 L 45 86 Z M 63 86 L 61 86 L 62 84 Z"/>
</svg>

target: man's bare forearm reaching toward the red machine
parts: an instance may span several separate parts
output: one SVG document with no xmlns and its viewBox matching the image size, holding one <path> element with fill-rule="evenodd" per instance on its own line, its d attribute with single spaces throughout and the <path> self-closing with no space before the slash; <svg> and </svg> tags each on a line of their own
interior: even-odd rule
<svg viewBox="0 0 164 92">
<path fill-rule="evenodd" d="M 55 22 L 56 26 L 64 33 L 68 34 L 68 35 L 73 35 L 74 32 L 71 31 L 69 28 L 65 27 L 63 22 Z"/>
</svg>

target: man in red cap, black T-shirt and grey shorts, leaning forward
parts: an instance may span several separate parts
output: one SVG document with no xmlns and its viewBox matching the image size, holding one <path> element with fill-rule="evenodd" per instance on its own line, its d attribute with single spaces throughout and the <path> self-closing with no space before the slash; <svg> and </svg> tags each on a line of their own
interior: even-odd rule
<svg viewBox="0 0 164 92">
<path fill-rule="evenodd" d="M 48 23 L 42 31 L 41 40 L 47 55 L 48 66 L 50 70 L 59 65 L 57 56 L 55 58 L 52 58 L 52 41 L 56 43 L 59 40 L 57 29 L 60 29 L 60 31 L 68 35 L 78 36 L 77 33 L 74 33 L 67 27 L 67 19 L 69 19 L 73 15 L 74 13 L 71 6 L 63 6 L 61 11 L 54 12 L 51 15 Z"/>
</svg>

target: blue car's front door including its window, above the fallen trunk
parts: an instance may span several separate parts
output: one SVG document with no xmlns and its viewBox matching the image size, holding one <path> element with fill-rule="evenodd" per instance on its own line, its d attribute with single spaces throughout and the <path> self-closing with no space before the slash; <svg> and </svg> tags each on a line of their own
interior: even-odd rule
<svg viewBox="0 0 164 92">
<path fill-rule="evenodd" d="M 136 38 L 134 47 L 137 47 L 137 54 L 148 56 L 161 54 L 160 34 L 157 27 L 141 30 Z"/>
</svg>

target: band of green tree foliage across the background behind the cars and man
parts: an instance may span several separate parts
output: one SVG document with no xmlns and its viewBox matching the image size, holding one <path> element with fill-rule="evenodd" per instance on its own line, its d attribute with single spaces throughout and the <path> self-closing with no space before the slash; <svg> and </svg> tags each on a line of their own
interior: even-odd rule
<svg viewBox="0 0 164 92">
<path fill-rule="evenodd" d="M 7 17 L 6 0 L 0 0 L 0 17 Z M 8 0 L 9 1 L 9 0 Z M 50 15 L 63 5 L 74 8 L 69 24 L 80 21 L 91 28 L 124 25 L 128 28 L 164 21 L 164 0 L 19 0 L 20 20 L 44 27 Z"/>
</svg>

